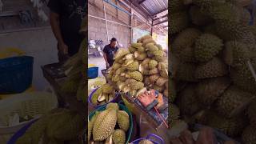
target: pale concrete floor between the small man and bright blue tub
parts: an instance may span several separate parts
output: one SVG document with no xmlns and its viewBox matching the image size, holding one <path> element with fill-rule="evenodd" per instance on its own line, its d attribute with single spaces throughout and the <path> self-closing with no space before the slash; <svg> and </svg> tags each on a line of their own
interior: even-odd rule
<svg viewBox="0 0 256 144">
<path fill-rule="evenodd" d="M 104 77 L 102 70 L 106 69 L 106 62 L 103 57 L 101 58 L 88 58 L 88 64 L 94 64 L 98 67 L 98 77 Z"/>
</svg>

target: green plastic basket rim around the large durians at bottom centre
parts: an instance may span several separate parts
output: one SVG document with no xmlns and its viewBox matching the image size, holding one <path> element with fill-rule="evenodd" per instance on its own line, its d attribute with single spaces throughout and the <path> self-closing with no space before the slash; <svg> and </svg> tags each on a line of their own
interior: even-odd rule
<svg viewBox="0 0 256 144">
<path fill-rule="evenodd" d="M 128 133 L 126 133 L 126 144 L 128 144 L 128 142 L 130 141 L 131 133 L 133 132 L 133 127 L 134 127 L 133 116 L 131 115 L 130 110 L 128 110 L 126 106 L 122 105 L 121 103 L 118 103 L 118 106 L 120 110 L 125 110 L 126 113 L 129 114 L 130 128 L 128 130 Z M 98 109 L 94 110 L 94 112 L 90 113 L 89 119 L 93 118 L 96 111 L 103 111 L 103 110 L 106 110 L 106 106 L 101 106 Z"/>
</svg>

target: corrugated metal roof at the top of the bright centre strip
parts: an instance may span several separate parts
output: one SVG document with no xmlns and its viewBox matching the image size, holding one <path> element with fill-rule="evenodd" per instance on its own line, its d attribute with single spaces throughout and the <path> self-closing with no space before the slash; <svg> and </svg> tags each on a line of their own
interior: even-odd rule
<svg viewBox="0 0 256 144">
<path fill-rule="evenodd" d="M 168 0 L 142 0 L 140 2 L 138 3 L 140 3 L 151 16 L 168 9 Z"/>
</svg>

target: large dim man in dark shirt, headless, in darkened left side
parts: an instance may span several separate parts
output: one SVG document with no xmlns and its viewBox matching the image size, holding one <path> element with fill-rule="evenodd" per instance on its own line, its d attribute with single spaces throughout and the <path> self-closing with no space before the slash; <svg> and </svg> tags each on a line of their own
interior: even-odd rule
<svg viewBox="0 0 256 144">
<path fill-rule="evenodd" d="M 78 52 L 83 34 L 79 33 L 86 13 L 86 0 L 50 0 L 50 25 L 58 41 L 58 59 L 66 60 Z"/>
</svg>

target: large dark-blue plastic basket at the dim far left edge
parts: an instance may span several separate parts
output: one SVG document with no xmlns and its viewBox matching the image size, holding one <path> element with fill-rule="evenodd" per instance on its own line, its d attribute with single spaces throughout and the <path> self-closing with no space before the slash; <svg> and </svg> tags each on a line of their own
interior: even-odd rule
<svg viewBox="0 0 256 144">
<path fill-rule="evenodd" d="M 34 58 L 19 56 L 0 59 L 0 94 L 22 93 L 31 86 Z"/>
</svg>

